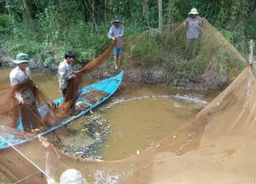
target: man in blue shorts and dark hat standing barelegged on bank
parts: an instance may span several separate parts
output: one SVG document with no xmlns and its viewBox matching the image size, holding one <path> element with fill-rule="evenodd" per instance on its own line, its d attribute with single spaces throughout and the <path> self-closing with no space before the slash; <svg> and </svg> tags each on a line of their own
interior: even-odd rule
<svg viewBox="0 0 256 184">
<path fill-rule="evenodd" d="M 121 25 L 121 21 L 118 18 L 115 18 L 113 21 L 113 26 L 109 29 L 108 37 L 109 39 L 117 40 L 117 45 L 113 48 L 113 55 L 115 60 L 115 69 L 118 69 L 124 46 L 124 26 Z"/>
</svg>

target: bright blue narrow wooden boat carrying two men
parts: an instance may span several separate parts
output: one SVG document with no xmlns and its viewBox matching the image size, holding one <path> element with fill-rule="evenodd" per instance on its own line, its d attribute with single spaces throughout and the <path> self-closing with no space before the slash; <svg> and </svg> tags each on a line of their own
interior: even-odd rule
<svg viewBox="0 0 256 184">
<path fill-rule="evenodd" d="M 81 89 L 80 91 L 78 91 L 78 93 L 80 94 L 78 99 L 76 99 L 76 102 L 82 103 L 85 106 L 87 106 L 87 108 L 85 108 L 84 110 L 82 110 L 81 112 L 79 112 L 78 114 L 76 114 L 73 117 L 70 117 L 69 119 L 66 119 L 65 121 L 62 121 L 61 123 L 59 123 L 59 125 L 56 125 L 55 127 L 51 127 L 50 129 L 48 129 L 46 132 L 42 132 L 40 133 L 42 136 L 44 134 L 48 134 L 49 132 L 52 132 L 55 129 L 58 129 L 59 127 L 66 125 L 68 123 L 70 123 L 71 121 L 74 121 L 74 119 L 77 119 L 78 117 L 81 117 L 83 114 L 87 113 L 89 110 L 95 108 L 96 106 L 98 106 L 99 104 L 101 104 L 102 102 L 106 101 L 106 99 L 109 99 L 109 97 L 111 97 L 111 95 L 113 95 L 113 93 L 115 93 L 115 91 L 117 91 L 119 85 L 122 82 L 122 77 L 123 77 L 124 72 L 120 72 L 119 74 L 117 74 L 117 76 L 113 76 L 111 78 L 106 78 L 104 80 L 101 80 L 100 82 L 96 82 L 92 85 L 89 85 L 83 89 Z M 90 100 L 87 100 L 83 97 L 83 94 L 87 94 L 89 92 L 94 93 L 94 91 L 100 91 L 102 93 L 105 93 L 106 95 L 104 97 L 102 97 L 102 99 L 100 99 L 100 101 L 98 102 L 92 102 Z M 55 104 L 61 104 L 61 102 L 63 102 L 63 97 L 56 99 Z M 44 117 L 44 106 L 38 108 L 38 111 L 40 112 L 41 117 Z M 8 132 L 8 127 L 6 127 L 5 125 L 1 125 L 0 126 L 0 149 L 5 149 L 12 146 L 15 146 L 17 144 L 23 144 L 25 142 L 28 142 L 29 140 L 33 140 L 34 138 L 37 138 L 38 136 L 32 136 L 31 138 L 27 138 L 27 139 L 20 139 L 20 138 L 16 138 L 15 136 L 15 132 L 14 134 L 7 134 L 6 132 Z M 17 127 L 17 131 L 23 131 L 23 125 L 21 123 L 21 118 L 19 118 L 19 124 Z M 7 142 L 6 142 L 7 141 Z"/>
</svg>

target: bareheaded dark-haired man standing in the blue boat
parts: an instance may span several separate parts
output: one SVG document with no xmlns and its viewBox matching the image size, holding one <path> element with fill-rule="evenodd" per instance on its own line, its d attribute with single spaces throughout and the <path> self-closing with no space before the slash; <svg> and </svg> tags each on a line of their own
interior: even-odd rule
<svg viewBox="0 0 256 184">
<path fill-rule="evenodd" d="M 71 78 L 76 78 L 76 73 L 73 72 L 71 64 L 74 62 L 76 56 L 73 52 L 68 51 L 65 53 L 65 60 L 59 64 L 58 76 L 59 76 L 59 88 L 65 97 L 68 90 L 68 81 Z"/>
</svg>

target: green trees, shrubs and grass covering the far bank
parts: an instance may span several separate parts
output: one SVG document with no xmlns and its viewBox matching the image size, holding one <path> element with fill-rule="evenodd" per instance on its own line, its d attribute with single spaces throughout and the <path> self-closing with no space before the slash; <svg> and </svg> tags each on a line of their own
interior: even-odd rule
<svg viewBox="0 0 256 184">
<path fill-rule="evenodd" d="M 218 31 L 245 58 L 248 40 L 255 39 L 253 0 L 0 0 L 0 5 L 1 50 L 13 57 L 26 52 L 44 67 L 51 67 L 63 60 L 66 50 L 72 50 L 85 65 L 109 46 L 106 35 L 118 16 L 125 27 L 123 67 L 158 65 L 165 70 L 165 85 L 170 86 L 201 80 L 212 71 L 214 80 L 232 80 L 242 70 L 244 65 L 229 59 L 237 54 L 231 46 L 220 46 L 223 39 L 209 42 L 216 40 L 212 35 Z M 185 33 L 177 22 L 184 21 L 192 7 L 213 27 L 205 37 L 208 44 L 201 46 L 203 52 L 195 61 L 185 63 Z M 214 43 L 216 47 L 210 48 Z"/>
</svg>

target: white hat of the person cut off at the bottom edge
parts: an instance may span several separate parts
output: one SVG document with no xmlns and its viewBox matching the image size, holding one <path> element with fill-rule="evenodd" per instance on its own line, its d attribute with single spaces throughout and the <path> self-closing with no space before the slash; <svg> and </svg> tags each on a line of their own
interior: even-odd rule
<svg viewBox="0 0 256 184">
<path fill-rule="evenodd" d="M 75 169 L 68 169 L 63 172 L 59 180 L 60 184 L 87 184 L 87 181 L 83 179 L 81 172 Z"/>
</svg>

